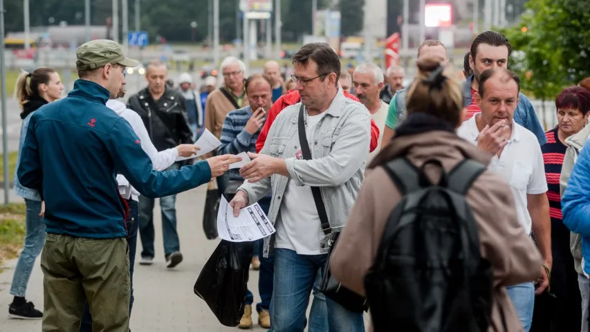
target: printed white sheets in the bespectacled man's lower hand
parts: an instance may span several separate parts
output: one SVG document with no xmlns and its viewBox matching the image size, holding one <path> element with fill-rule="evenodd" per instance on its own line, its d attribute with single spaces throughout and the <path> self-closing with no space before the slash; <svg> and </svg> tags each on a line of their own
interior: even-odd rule
<svg viewBox="0 0 590 332">
<path fill-rule="evenodd" d="M 245 242 L 263 239 L 276 231 L 258 203 L 242 208 L 239 216 L 235 217 L 234 209 L 225 197 L 221 196 L 217 213 L 217 232 L 219 237 L 226 241 Z"/>
</svg>

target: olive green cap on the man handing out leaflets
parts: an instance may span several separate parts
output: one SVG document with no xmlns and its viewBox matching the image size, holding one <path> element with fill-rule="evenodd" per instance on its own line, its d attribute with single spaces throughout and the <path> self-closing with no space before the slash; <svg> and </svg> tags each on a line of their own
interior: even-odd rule
<svg viewBox="0 0 590 332">
<path fill-rule="evenodd" d="M 109 39 L 95 39 L 84 43 L 76 50 L 76 69 L 91 71 L 107 64 L 120 64 L 126 67 L 138 66 L 139 62 L 123 55 L 121 46 Z"/>
</svg>

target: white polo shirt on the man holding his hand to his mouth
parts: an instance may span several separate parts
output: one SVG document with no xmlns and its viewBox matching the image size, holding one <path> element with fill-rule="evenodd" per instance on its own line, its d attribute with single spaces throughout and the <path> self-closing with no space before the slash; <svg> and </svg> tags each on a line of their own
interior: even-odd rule
<svg viewBox="0 0 590 332">
<path fill-rule="evenodd" d="M 477 129 L 475 122 L 475 119 L 479 118 L 479 114 L 477 113 L 463 122 L 457 130 L 457 135 L 474 145 L 477 145 L 477 136 L 479 135 L 479 129 Z M 514 120 L 512 128 L 512 135 L 500 158 L 497 155 L 493 156 L 488 168 L 510 183 L 518 220 L 524 226 L 526 234 L 530 234 L 533 222 L 531 214 L 528 214 L 526 195 L 547 192 L 545 165 L 541 146 L 535 134 Z"/>
</svg>

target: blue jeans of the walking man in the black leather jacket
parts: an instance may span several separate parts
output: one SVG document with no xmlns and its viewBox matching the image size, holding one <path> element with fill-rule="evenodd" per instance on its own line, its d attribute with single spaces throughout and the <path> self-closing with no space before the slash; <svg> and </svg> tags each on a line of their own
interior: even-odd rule
<svg viewBox="0 0 590 332">
<path fill-rule="evenodd" d="M 178 164 L 169 167 L 178 169 Z M 139 236 L 141 238 L 141 257 L 154 258 L 154 203 L 155 199 L 139 196 Z M 162 210 L 162 235 L 164 238 L 164 254 L 180 251 L 181 244 L 176 232 L 176 195 L 160 197 Z"/>
</svg>

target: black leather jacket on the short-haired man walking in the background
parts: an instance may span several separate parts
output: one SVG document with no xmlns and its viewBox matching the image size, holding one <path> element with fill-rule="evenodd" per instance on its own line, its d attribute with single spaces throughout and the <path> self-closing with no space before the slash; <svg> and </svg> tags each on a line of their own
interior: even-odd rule
<svg viewBox="0 0 590 332">
<path fill-rule="evenodd" d="M 185 98 L 175 90 L 166 87 L 162 97 L 155 101 L 145 88 L 127 101 L 127 108 L 136 111 L 149 133 L 151 142 L 158 151 L 192 144 L 192 130 L 188 124 Z"/>
</svg>

